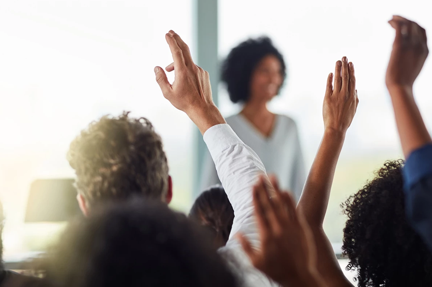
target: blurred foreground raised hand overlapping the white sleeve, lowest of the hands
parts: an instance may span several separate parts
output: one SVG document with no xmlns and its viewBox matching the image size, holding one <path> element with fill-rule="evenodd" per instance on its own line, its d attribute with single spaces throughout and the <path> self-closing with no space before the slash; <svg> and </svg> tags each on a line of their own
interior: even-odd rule
<svg viewBox="0 0 432 287">
<path fill-rule="evenodd" d="M 261 246 L 255 250 L 245 236 L 240 243 L 252 264 L 284 286 L 322 286 L 316 271 L 316 250 L 312 233 L 295 210 L 289 193 L 283 193 L 273 178 L 270 186 L 260 178 L 254 186 L 255 215 Z"/>
</svg>

